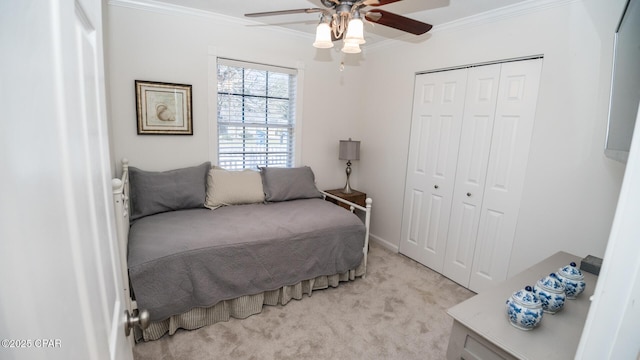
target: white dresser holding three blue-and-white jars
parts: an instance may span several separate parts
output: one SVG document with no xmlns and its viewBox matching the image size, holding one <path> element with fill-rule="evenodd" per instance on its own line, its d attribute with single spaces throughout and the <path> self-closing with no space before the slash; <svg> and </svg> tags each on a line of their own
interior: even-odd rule
<svg viewBox="0 0 640 360">
<path fill-rule="evenodd" d="M 567 300 L 564 308 L 551 315 L 545 313 L 538 327 L 530 331 L 513 327 L 506 316 L 505 302 L 526 285 L 580 258 L 558 252 L 497 287 L 466 300 L 447 312 L 454 319 L 448 360 L 493 359 L 573 359 L 589 311 L 598 277 L 587 273 L 585 291 L 576 300 Z"/>
</svg>

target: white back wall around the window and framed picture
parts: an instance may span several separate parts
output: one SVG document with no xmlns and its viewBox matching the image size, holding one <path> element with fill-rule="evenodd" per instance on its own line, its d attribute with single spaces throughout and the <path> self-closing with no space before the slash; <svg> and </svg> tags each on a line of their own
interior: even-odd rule
<svg viewBox="0 0 640 360">
<path fill-rule="evenodd" d="M 322 189 L 344 186 L 340 139 L 358 139 L 363 69 L 346 62 L 339 71 L 336 51 L 320 52 L 313 37 L 256 26 L 224 16 L 180 8 L 130 7 L 110 2 L 107 14 L 107 69 L 114 167 L 126 157 L 132 166 L 168 170 L 216 159 L 209 133 L 210 53 L 237 60 L 304 69 L 300 165 L 309 165 Z M 215 74 L 215 72 L 214 72 Z M 134 80 L 192 85 L 193 136 L 137 135 Z M 213 111 L 215 114 L 215 111 Z M 215 137 L 214 137 L 215 139 Z M 358 162 L 352 185 L 357 188 Z"/>
</svg>

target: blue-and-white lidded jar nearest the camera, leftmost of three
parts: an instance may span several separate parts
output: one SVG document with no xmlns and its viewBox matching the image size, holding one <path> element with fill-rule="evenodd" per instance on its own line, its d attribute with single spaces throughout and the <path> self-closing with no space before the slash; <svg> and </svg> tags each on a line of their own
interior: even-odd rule
<svg viewBox="0 0 640 360">
<path fill-rule="evenodd" d="M 511 325 L 521 330 L 531 330 L 542 321 L 542 303 L 531 286 L 518 290 L 507 299 L 507 317 Z"/>
</svg>

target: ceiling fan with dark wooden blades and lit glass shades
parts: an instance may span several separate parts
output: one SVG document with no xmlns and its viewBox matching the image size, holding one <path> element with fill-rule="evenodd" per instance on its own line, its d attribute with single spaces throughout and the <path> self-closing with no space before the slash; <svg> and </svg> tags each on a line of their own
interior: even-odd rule
<svg viewBox="0 0 640 360">
<path fill-rule="evenodd" d="M 422 35 L 433 27 L 430 24 L 413 20 L 408 17 L 394 14 L 381 9 L 364 11 L 368 6 L 382 6 L 401 0 L 321 0 L 322 5 L 328 9 L 307 8 L 279 11 L 267 11 L 245 14 L 247 17 L 261 17 L 272 15 L 288 15 L 300 13 L 321 13 L 320 24 L 316 28 L 316 41 L 313 46 L 317 48 L 333 47 L 333 41 L 343 40 L 342 51 L 345 53 L 359 53 L 360 45 L 365 43 L 363 34 L 363 22 L 365 20 L 392 27 L 414 35 Z"/>
</svg>

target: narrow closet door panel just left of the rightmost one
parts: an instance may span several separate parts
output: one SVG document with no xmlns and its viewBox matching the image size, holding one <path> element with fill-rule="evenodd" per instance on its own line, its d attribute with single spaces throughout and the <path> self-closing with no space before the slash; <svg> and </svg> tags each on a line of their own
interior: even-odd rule
<svg viewBox="0 0 640 360">
<path fill-rule="evenodd" d="M 500 64 L 469 69 L 443 275 L 468 286 L 495 119 Z"/>
</svg>

